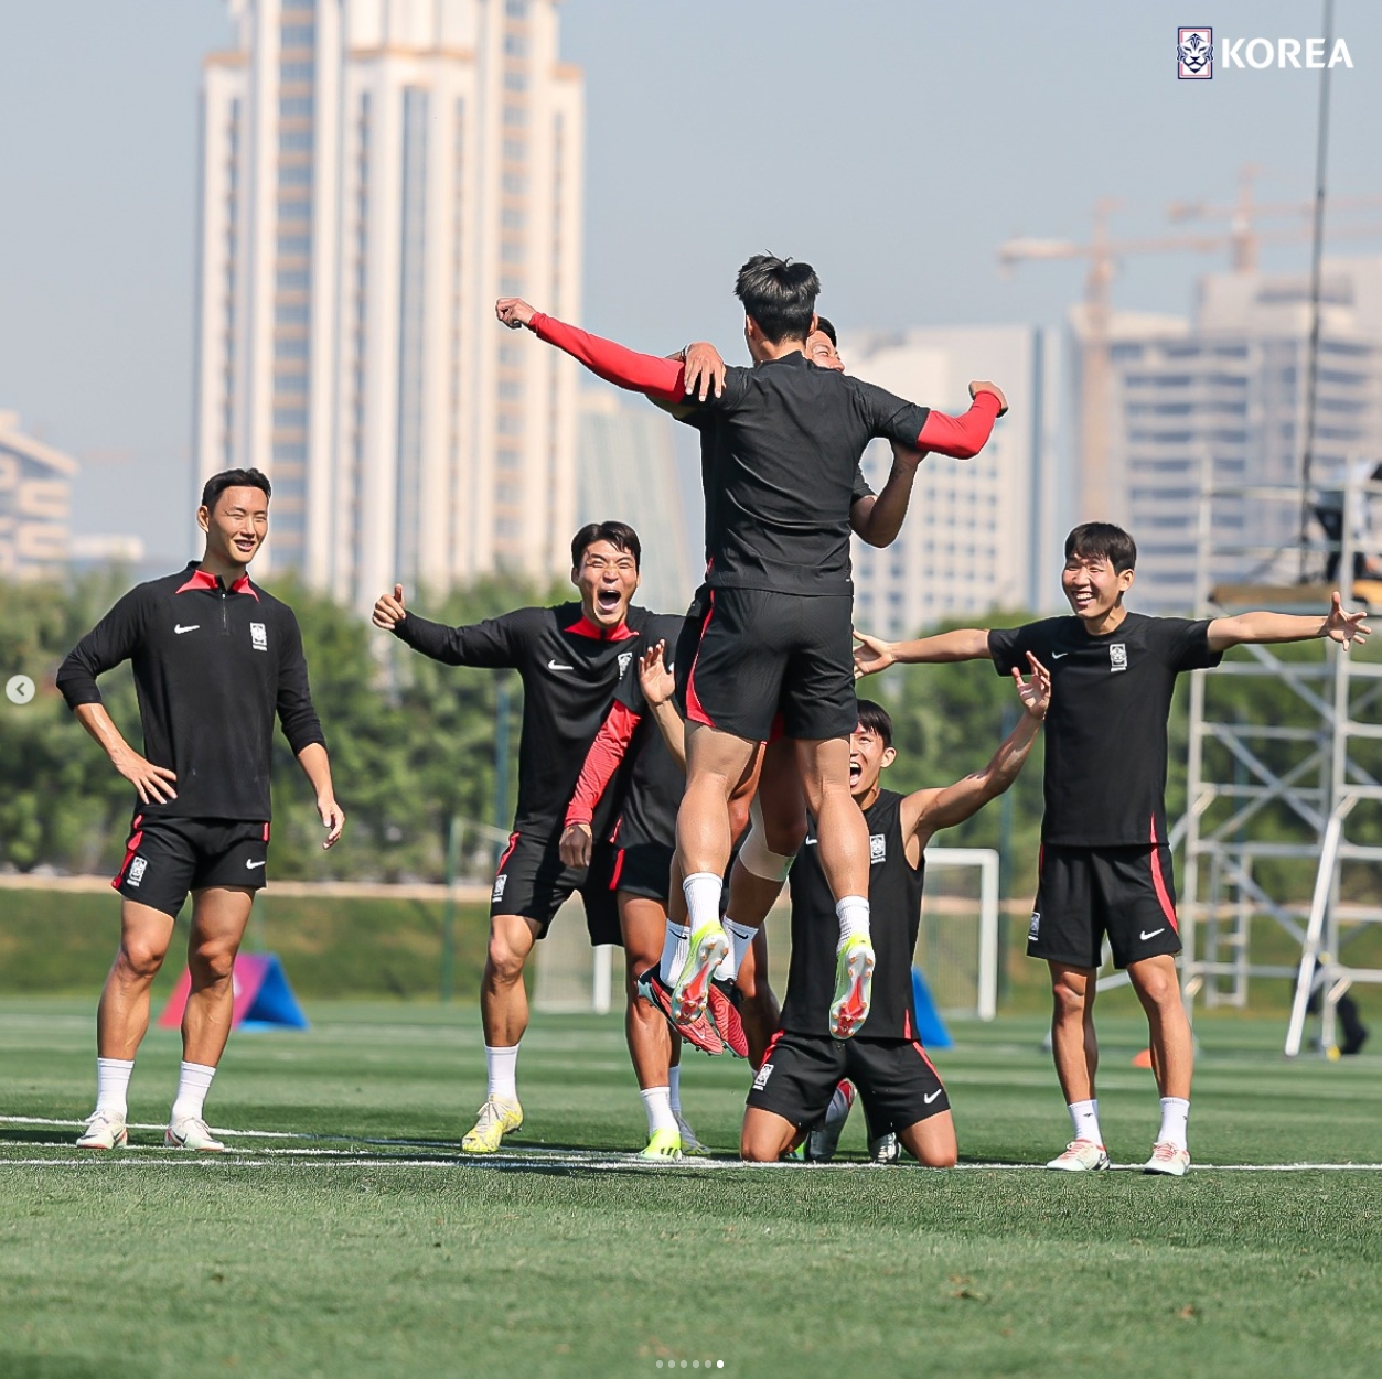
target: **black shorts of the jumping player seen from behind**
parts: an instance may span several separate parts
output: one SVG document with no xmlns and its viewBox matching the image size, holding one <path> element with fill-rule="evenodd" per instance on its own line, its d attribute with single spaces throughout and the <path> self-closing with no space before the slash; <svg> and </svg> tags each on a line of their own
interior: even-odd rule
<svg viewBox="0 0 1382 1379">
<path fill-rule="evenodd" d="M 677 641 L 683 717 L 766 742 L 781 710 L 789 738 L 847 738 L 858 723 L 853 615 L 847 594 L 698 594 Z"/>
</svg>

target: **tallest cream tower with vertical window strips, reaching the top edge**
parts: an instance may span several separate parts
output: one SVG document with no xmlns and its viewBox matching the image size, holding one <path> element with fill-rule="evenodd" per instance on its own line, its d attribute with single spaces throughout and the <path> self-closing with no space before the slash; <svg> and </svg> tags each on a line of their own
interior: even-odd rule
<svg viewBox="0 0 1382 1379">
<path fill-rule="evenodd" d="M 274 481 L 261 561 L 362 607 L 565 571 L 583 87 L 556 0 L 229 0 L 207 59 L 196 466 Z M 525 347 L 527 345 L 527 347 Z"/>
</svg>

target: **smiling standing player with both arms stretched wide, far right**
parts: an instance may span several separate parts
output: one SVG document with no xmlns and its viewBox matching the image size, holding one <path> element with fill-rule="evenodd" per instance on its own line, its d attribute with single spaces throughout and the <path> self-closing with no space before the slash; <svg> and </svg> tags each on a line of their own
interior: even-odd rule
<svg viewBox="0 0 1382 1379">
<path fill-rule="evenodd" d="M 1050 969 L 1052 1046 L 1074 1137 L 1048 1168 L 1108 1168 L 1093 1021 L 1107 935 L 1114 966 L 1126 969 L 1147 1014 L 1161 1093 L 1161 1129 L 1144 1168 L 1183 1177 L 1194 1049 L 1176 980 L 1180 937 L 1166 843 L 1166 719 L 1176 676 L 1218 666 L 1230 647 L 1313 637 L 1349 647 L 1370 629 L 1363 614 L 1343 612 L 1338 594 L 1323 618 L 1148 618 L 1124 604 L 1136 561 L 1137 547 L 1122 528 L 1085 522 L 1066 538 L 1061 587 L 1072 618 L 919 641 L 860 637 L 855 660 L 864 674 L 894 662 L 990 659 L 1006 674 L 1028 655 L 1050 667 L 1046 814 L 1027 952 Z"/>
</svg>

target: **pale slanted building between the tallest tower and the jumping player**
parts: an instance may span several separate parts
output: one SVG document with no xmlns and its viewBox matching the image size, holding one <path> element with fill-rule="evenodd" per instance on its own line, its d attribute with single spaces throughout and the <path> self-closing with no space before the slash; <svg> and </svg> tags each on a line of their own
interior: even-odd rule
<svg viewBox="0 0 1382 1379">
<path fill-rule="evenodd" d="M 623 406 L 612 390 L 580 394 L 576 525 L 614 518 L 638 533 L 638 602 L 659 612 L 681 612 L 698 582 L 687 550 L 674 426 L 655 408 Z"/>
</svg>

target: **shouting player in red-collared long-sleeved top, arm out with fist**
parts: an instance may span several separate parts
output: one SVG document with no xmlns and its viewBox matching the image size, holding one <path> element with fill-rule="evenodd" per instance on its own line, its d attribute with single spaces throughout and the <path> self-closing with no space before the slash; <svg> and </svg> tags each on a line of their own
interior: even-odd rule
<svg viewBox="0 0 1382 1379">
<path fill-rule="evenodd" d="M 499 858 L 489 902 L 489 951 L 480 989 L 488 1090 L 467 1154 L 492 1154 L 522 1125 L 518 1045 L 528 1028 L 522 973 L 533 944 L 546 935 L 561 904 L 579 890 L 591 937 L 614 920 L 608 883 L 597 868 L 561 858 L 562 817 L 582 763 L 614 702 L 619 681 L 634 674 L 647 614 L 630 608 L 638 587 L 641 547 L 623 522 L 591 522 L 571 543 L 571 582 L 579 602 L 520 608 L 470 627 L 445 627 L 410 614 L 404 590 L 375 604 L 375 626 L 449 666 L 517 670 L 524 684 L 518 743 L 518 804 L 509 846 Z"/>
</svg>

